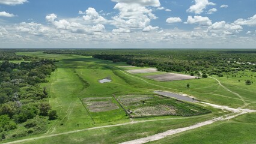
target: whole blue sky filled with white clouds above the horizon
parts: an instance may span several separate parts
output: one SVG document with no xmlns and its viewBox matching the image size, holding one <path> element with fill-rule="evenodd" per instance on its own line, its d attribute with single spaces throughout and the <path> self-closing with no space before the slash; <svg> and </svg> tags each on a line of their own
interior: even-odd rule
<svg viewBox="0 0 256 144">
<path fill-rule="evenodd" d="M 0 0 L 0 48 L 256 48 L 255 0 Z"/>
</svg>

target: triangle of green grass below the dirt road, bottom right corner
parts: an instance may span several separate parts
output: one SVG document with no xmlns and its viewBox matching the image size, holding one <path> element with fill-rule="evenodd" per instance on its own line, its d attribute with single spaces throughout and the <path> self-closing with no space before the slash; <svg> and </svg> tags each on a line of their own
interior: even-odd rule
<svg viewBox="0 0 256 144">
<path fill-rule="evenodd" d="M 256 143 L 256 113 L 187 131 L 150 143 Z"/>
</svg>

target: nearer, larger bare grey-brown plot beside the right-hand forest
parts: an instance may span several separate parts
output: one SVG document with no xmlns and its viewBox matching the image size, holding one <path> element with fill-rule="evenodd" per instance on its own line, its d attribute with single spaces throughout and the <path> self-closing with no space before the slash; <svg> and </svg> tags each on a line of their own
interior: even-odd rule
<svg viewBox="0 0 256 144">
<path fill-rule="evenodd" d="M 150 76 L 144 76 L 144 77 L 148 79 L 153 79 L 159 82 L 195 79 L 195 76 L 187 76 L 185 74 L 174 74 L 174 73 L 156 74 L 156 75 L 150 75 Z"/>
</svg>

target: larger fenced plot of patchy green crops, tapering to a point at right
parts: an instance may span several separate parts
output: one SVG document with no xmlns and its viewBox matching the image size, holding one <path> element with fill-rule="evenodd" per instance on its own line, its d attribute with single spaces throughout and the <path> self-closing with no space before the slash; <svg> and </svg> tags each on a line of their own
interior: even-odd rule
<svg viewBox="0 0 256 144">
<path fill-rule="evenodd" d="M 148 116 L 194 116 L 210 113 L 209 110 L 172 98 L 158 95 L 123 95 L 118 101 L 132 118 Z"/>
</svg>

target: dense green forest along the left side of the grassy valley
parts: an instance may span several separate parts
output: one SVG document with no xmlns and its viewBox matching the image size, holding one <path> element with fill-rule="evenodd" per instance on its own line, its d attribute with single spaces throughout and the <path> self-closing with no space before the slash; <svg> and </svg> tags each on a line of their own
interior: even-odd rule
<svg viewBox="0 0 256 144">
<path fill-rule="evenodd" d="M 56 118 L 47 89 L 40 85 L 55 70 L 54 61 L 0 52 L 0 139 L 40 133 L 48 119 Z"/>
</svg>

